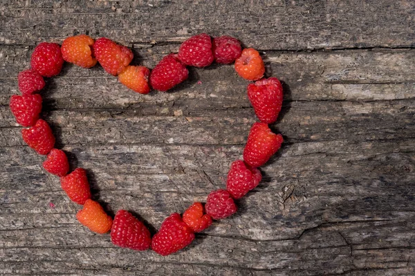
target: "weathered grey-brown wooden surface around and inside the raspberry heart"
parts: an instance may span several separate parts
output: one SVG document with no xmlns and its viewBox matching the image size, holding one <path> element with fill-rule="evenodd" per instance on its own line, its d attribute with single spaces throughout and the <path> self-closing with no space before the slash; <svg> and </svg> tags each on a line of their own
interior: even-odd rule
<svg viewBox="0 0 415 276">
<path fill-rule="evenodd" d="M 0 2 L 1 275 L 415 274 L 415 1 Z M 17 73 L 41 41 L 105 36 L 152 68 L 199 32 L 261 50 L 284 81 L 272 126 L 284 146 L 239 212 L 192 246 L 118 248 L 77 223 L 80 206 L 22 141 L 8 108 Z M 256 120 L 232 66 L 190 75 L 138 95 L 100 66 L 66 64 L 42 92 L 42 117 L 93 197 L 152 233 L 224 187 Z"/>
</svg>

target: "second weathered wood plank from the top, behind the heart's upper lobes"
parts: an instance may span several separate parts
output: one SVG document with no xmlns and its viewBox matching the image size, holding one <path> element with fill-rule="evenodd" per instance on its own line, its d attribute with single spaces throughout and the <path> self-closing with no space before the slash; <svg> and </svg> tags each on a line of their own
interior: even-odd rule
<svg viewBox="0 0 415 276">
<path fill-rule="evenodd" d="M 32 49 L 0 47 L 0 55 L 4 57 L 0 61 L 1 105 L 8 104 L 10 95 L 18 92 L 17 72 L 29 66 Z M 166 52 L 170 50 L 177 47 Z M 156 46 L 151 53 L 139 50 L 136 55 L 143 55 L 139 62 L 152 68 L 160 60 L 161 52 L 165 48 Z M 268 72 L 286 83 L 286 102 L 394 100 L 411 99 L 415 95 L 414 50 L 267 52 L 266 57 Z M 185 115 L 192 112 L 200 115 L 206 109 L 249 106 L 244 92 L 247 83 L 237 76 L 232 66 L 214 66 L 193 70 L 190 80 L 174 92 L 138 95 L 100 67 L 82 70 L 66 65 L 64 74 L 50 80 L 43 94 L 48 108 L 129 107 L 141 115 L 154 115 L 154 112 L 173 115 L 178 110 L 174 108 L 180 106 Z"/>
</svg>

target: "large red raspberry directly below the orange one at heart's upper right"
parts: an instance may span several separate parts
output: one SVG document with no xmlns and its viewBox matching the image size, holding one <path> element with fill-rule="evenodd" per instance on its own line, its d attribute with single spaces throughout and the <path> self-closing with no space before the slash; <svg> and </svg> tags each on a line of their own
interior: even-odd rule
<svg viewBox="0 0 415 276">
<path fill-rule="evenodd" d="M 266 124 L 277 121 L 282 108 L 282 85 L 275 77 L 261 79 L 248 85 L 248 98 L 255 114 Z"/>
</svg>

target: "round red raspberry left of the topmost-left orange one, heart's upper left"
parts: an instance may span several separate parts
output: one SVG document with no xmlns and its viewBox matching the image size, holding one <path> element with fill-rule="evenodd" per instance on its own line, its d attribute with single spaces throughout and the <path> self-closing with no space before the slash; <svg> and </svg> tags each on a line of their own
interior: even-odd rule
<svg viewBox="0 0 415 276">
<path fill-rule="evenodd" d="M 62 53 L 57 43 L 42 42 L 36 46 L 30 59 L 32 69 L 44 77 L 59 74 L 64 64 Z"/>
</svg>

